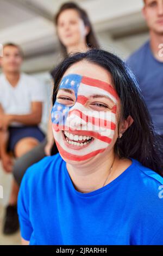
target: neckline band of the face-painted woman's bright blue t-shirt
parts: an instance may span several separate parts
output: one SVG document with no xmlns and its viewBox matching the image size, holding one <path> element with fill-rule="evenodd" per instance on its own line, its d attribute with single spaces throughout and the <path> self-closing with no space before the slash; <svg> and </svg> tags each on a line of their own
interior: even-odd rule
<svg viewBox="0 0 163 256">
<path fill-rule="evenodd" d="M 132 163 L 130 164 L 130 166 L 126 170 L 124 170 L 123 173 L 121 173 L 119 176 L 117 176 L 117 178 L 112 180 L 109 184 L 105 185 L 104 187 L 98 188 L 97 190 L 92 191 L 92 192 L 88 192 L 88 193 L 79 192 L 79 191 L 76 190 L 76 188 L 74 188 L 73 182 L 70 178 L 70 174 L 68 173 L 68 170 L 66 168 L 66 162 L 65 161 L 64 161 L 64 171 L 66 173 L 68 183 L 70 184 L 71 190 L 73 191 L 73 193 L 76 193 L 80 197 L 91 197 L 91 196 L 96 196 L 97 194 L 102 193 L 106 190 L 109 190 L 110 187 L 114 186 L 118 181 L 123 179 L 128 174 L 128 172 L 130 170 L 134 169 L 134 166 L 136 164 L 136 160 L 134 160 L 132 158 L 129 158 L 129 159 L 132 161 Z"/>
</svg>

